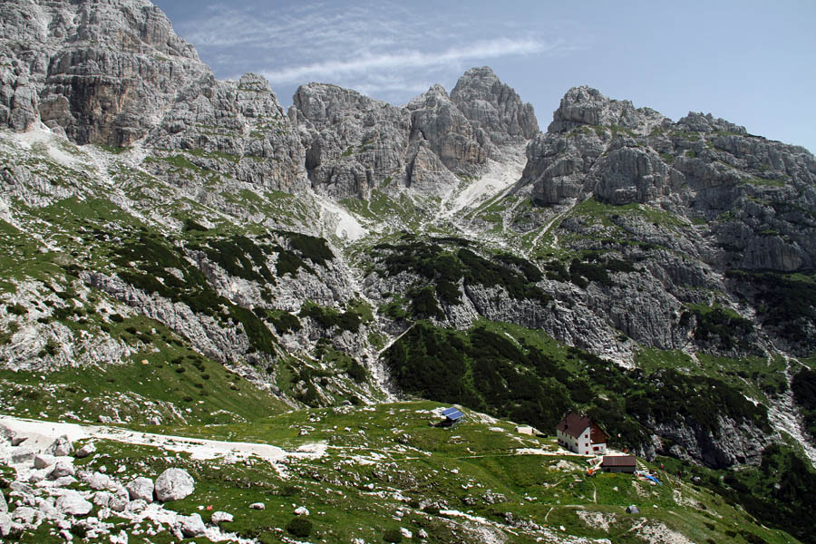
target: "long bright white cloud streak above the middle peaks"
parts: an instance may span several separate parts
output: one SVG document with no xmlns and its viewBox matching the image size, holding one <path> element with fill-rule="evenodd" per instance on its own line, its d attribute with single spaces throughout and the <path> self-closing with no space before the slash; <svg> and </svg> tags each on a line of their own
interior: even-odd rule
<svg viewBox="0 0 816 544">
<path fill-rule="evenodd" d="M 330 60 L 266 70 L 262 74 L 272 83 L 302 82 L 309 78 L 336 79 L 374 70 L 402 70 L 415 68 L 438 68 L 458 65 L 464 61 L 492 59 L 510 55 L 544 53 L 559 49 L 560 44 L 543 44 L 534 39 L 500 38 L 465 47 L 452 47 L 438 53 L 404 51 L 401 53 L 369 53 L 352 60 Z"/>
</svg>

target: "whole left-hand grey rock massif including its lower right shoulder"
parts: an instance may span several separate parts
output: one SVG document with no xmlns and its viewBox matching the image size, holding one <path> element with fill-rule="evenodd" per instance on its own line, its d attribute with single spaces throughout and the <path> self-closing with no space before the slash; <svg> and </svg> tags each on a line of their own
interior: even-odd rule
<svg viewBox="0 0 816 544">
<path fill-rule="evenodd" d="M 216 81 L 150 2 L 26 0 L 0 10 L 0 124 L 43 122 L 76 143 L 114 147 L 147 136 L 160 152 L 197 152 L 199 168 L 228 178 L 306 187 L 304 150 L 266 80 Z"/>
</svg>

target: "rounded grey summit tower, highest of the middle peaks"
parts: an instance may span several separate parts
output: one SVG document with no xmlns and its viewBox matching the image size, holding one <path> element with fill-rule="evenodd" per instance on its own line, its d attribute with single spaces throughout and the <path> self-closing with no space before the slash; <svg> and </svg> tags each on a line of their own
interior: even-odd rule
<svg viewBox="0 0 816 544">
<path fill-rule="evenodd" d="M 474 129 L 485 131 L 497 145 L 529 140 L 539 131 L 533 107 L 521 102 L 488 66 L 465 72 L 453 87 L 451 101 Z"/>
</svg>

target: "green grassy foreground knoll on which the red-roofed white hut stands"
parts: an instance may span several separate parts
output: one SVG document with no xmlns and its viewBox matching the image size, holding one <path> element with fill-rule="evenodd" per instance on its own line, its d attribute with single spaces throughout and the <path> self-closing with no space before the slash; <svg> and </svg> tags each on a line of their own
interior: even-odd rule
<svg viewBox="0 0 816 544">
<path fill-rule="evenodd" d="M 170 503 L 171 509 L 199 512 L 205 521 L 212 511 L 228 511 L 235 520 L 224 524 L 224 529 L 261 542 L 280 541 L 280 529 L 294 517 L 293 505 L 306 506 L 311 512 L 309 519 L 315 529 L 308 541 L 350 542 L 360 538 L 376 542 L 382 541 L 385 529 L 399 527 L 414 533 L 424 529 L 429 534 L 427 541 L 433 543 L 484 541 L 483 533 L 473 530 L 473 524 L 443 513 L 450 509 L 484 518 L 489 522 L 488 530 L 520 543 L 552 534 L 548 530 L 558 533 L 559 526 L 571 535 L 641 542 L 635 528 L 643 525 L 662 531 L 665 526 L 695 542 L 740 542 L 729 535 L 743 532 L 754 535 L 756 542 L 795 542 L 780 531 L 764 529 L 743 510 L 689 481 L 678 482 L 665 478 L 665 474 L 661 474 L 665 481 L 662 486 L 647 485 L 624 474 L 589 478 L 582 458 L 556 454 L 551 437 L 519 435 L 513 432 L 512 423 L 469 412 L 467 419 L 453 428 L 432 427 L 429 423 L 438 419 L 430 411 L 438 406 L 409 402 L 307 410 L 261 418 L 251 424 L 166 429 L 274 443 L 288 450 L 312 442 L 328 446 L 321 459 L 292 460 L 277 470 L 265 461 L 193 461 L 183 454 L 168 455 L 117 442 L 98 442 L 99 454 L 78 463 L 98 468 L 106 462 L 110 465 L 111 458 L 128 457 L 131 462 L 126 465 L 125 477 L 155 477 L 167 467 L 185 467 L 197 482 L 196 491 L 188 499 Z M 308 433 L 301 434 L 301 429 Z M 516 452 L 519 448 L 552 454 L 520 454 Z M 248 505 L 256 501 L 264 502 L 266 510 L 249 510 Z M 442 505 L 443 512 L 429 503 Z M 629 504 L 636 504 L 642 514 L 627 515 L 624 510 Z M 200 510 L 206 505 L 212 505 L 212 510 Z M 401 520 L 396 517 L 398 510 L 403 512 Z M 508 513 L 513 523 L 508 522 Z M 607 529 L 586 521 L 590 517 L 606 522 Z M 520 521 L 543 529 L 525 529 L 518 525 Z M 132 535 L 130 542 L 172 540 L 167 532 L 150 540 L 135 535 L 134 528 L 123 520 L 114 532 L 118 529 Z M 38 538 L 36 541 L 57 541 L 43 530 Z"/>
</svg>

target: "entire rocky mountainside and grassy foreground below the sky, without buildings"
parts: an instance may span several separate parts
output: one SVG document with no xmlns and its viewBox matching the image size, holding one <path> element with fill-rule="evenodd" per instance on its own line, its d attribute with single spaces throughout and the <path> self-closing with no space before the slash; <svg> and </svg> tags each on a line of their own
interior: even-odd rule
<svg viewBox="0 0 816 544">
<path fill-rule="evenodd" d="M 816 542 L 809 151 L 588 87 L 542 132 L 488 67 L 287 112 L 147 0 L 0 15 L 4 541 Z"/>
</svg>

